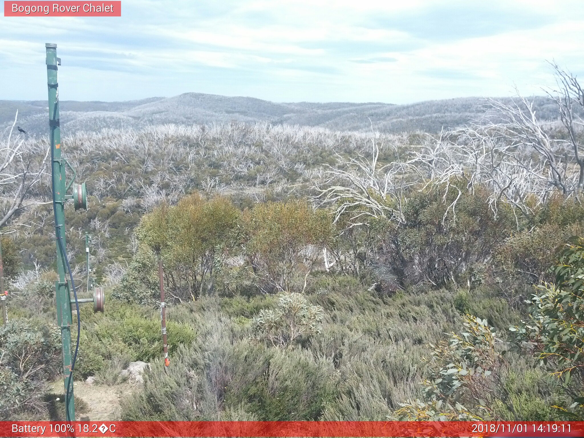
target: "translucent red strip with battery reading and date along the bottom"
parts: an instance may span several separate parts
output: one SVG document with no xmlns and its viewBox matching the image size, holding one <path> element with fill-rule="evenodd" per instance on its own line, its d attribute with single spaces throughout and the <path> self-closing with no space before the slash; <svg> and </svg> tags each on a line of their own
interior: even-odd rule
<svg viewBox="0 0 584 438">
<path fill-rule="evenodd" d="M 584 422 L 0 422 L 3 437 L 583 437 Z"/>
</svg>

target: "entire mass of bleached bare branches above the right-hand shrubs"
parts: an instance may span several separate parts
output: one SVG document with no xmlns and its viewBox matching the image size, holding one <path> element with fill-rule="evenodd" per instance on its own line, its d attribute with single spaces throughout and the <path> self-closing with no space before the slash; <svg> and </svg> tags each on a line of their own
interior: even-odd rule
<svg viewBox="0 0 584 438">
<path fill-rule="evenodd" d="M 473 191 L 477 185 L 490 190 L 495 215 L 500 202 L 530 215 L 553 192 L 579 200 L 584 187 L 584 91 L 575 76 L 555 63 L 551 66 L 557 87 L 547 93 L 557 106 L 558 121 L 538 119 L 534 100 L 519 91 L 510 100 L 486 99 L 482 120 L 426 134 L 422 144 L 402 153 L 392 145 L 395 161 L 381 165 L 383 144 L 373 139 L 369 158 L 360 151 L 348 158 L 337 154 L 338 165 L 325 172 L 328 179 L 314 185 L 316 199 L 335 206 L 335 221 L 350 212 L 350 226 L 380 216 L 402 223 L 402 206 L 412 186 L 443 187 L 445 202 L 450 190 L 458 191 L 444 220 L 448 214 L 456 217 L 463 190 Z"/>
</svg>

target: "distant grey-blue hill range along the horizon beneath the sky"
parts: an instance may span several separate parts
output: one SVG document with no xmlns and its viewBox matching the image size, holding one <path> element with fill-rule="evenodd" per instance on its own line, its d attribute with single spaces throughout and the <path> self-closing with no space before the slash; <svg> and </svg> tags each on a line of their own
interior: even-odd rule
<svg viewBox="0 0 584 438">
<path fill-rule="evenodd" d="M 538 114 L 555 117 L 554 105 L 536 97 Z M 103 128 L 140 128 L 152 124 L 197 124 L 214 121 L 298 124 L 332 130 L 362 131 L 373 128 L 385 133 L 423 130 L 439 131 L 457 127 L 484 114 L 481 98 L 428 100 L 408 105 L 367 102 L 275 103 L 268 100 L 184 93 L 172 98 L 149 98 L 127 102 L 60 102 L 63 134 L 100 131 Z M 12 123 L 16 110 L 18 124 L 30 134 L 48 130 L 46 101 L 0 100 L 0 127 Z M 370 122 L 371 120 L 371 122 Z"/>
</svg>

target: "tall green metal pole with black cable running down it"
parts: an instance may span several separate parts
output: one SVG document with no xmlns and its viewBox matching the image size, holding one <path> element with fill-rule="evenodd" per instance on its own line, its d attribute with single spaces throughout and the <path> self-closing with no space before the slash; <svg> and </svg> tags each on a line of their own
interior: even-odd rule
<svg viewBox="0 0 584 438">
<path fill-rule="evenodd" d="M 59 92 L 57 82 L 57 65 L 61 60 L 57 58 L 57 44 L 45 44 L 47 49 L 47 85 L 48 85 L 48 124 L 50 128 L 51 157 L 53 172 L 53 207 L 55 213 L 55 237 L 61 239 L 63 248 L 65 244 L 65 162 L 61 158 L 61 129 L 59 127 Z M 62 253 L 57 241 L 57 273 L 58 281 L 55 283 L 57 297 L 57 324 L 61 328 L 61 343 L 63 349 L 63 377 L 65 382 L 65 394 L 67 394 L 67 382 L 71 374 L 71 297 L 69 297 L 69 284 L 65 280 L 65 255 Z M 71 421 L 75 420 L 75 404 L 73 397 L 73 379 L 69 387 L 69 398 L 65 397 L 67 416 Z"/>
</svg>

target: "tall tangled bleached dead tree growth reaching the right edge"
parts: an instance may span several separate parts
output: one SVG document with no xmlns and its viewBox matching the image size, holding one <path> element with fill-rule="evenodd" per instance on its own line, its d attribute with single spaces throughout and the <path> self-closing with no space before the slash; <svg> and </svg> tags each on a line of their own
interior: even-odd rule
<svg viewBox="0 0 584 438">
<path fill-rule="evenodd" d="M 559 123 L 542 120 L 534 99 L 519 91 L 510 100 L 486 99 L 484 120 L 429 137 L 412 151 L 408 165 L 427 184 L 443 185 L 444 199 L 454 178 L 465 181 L 468 190 L 488 187 L 495 214 L 500 201 L 530 215 L 533 200 L 543 203 L 553 192 L 578 199 L 584 187 L 584 91 L 574 75 L 551 65 L 557 87 L 547 93 Z M 456 189 L 460 193 L 461 187 Z M 455 206 L 456 200 L 449 206 L 452 214 Z"/>
</svg>

